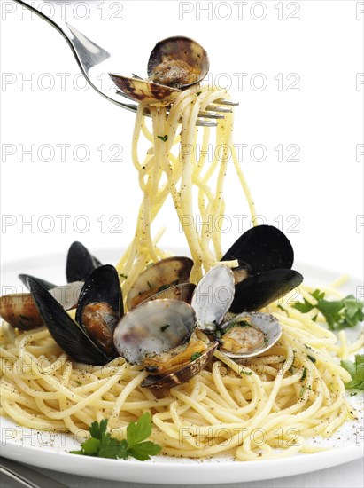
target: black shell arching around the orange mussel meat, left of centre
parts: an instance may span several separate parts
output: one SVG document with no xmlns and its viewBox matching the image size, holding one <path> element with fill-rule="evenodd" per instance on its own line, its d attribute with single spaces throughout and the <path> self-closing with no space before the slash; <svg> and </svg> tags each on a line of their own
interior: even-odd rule
<svg viewBox="0 0 364 488">
<path fill-rule="evenodd" d="M 116 323 L 124 314 L 118 272 L 111 264 L 100 266 L 89 275 L 81 289 L 76 311 L 76 322 L 82 326 L 82 313 L 89 303 L 107 303 L 112 308 Z"/>
</svg>

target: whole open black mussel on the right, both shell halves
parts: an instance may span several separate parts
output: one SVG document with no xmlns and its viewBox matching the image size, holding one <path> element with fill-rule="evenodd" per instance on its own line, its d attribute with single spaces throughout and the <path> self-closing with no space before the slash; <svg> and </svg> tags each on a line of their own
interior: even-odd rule
<svg viewBox="0 0 364 488">
<path fill-rule="evenodd" d="M 235 296 L 230 311 L 257 311 L 286 295 L 302 283 L 303 276 L 291 270 L 293 248 L 272 225 L 253 227 L 233 244 L 221 261 L 235 260 Z"/>
</svg>

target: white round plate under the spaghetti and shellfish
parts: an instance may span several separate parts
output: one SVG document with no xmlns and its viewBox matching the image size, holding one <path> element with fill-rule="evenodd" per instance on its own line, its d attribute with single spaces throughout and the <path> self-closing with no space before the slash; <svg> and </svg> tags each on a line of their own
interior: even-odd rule
<svg viewBox="0 0 364 488">
<path fill-rule="evenodd" d="M 95 251 L 104 263 L 115 263 L 118 253 Z M 19 289 L 19 272 L 34 274 L 56 283 L 65 281 L 65 256 L 46 256 L 39 259 L 21 260 L 9 263 L 2 269 L 2 292 L 4 287 Z M 295 265 L 302 272 L 306 283 L 320 287 L 336 279 L 339 273 L 329 272 L 308 265 Z M 351 281 L 343 287 L 344 293 L 355 293 L 359 280 Z M 359 327 L 349 331 L 353 339 Z M 15 422 L 1 419 L 2 455 L 40 468 L 55 469 L 79 476 L 93 476 L 115 481 L 154 484 L 221 484 L 242 481 L 292 476 L 317 469 L 329 468 L 362 456 L 362 396 L 349 397 L 352 405 L 359 409 L 358 421 L 346 422 L 334 437 L 316 438 L 315 445 L 329 447 L 328 451 L 314 454 L 298 454 L 277 460 L 239 462 L 227 458 L 213 460 L 182 460 L 155 457 L 147 462 L 136 460 L 107 460 L 76 456 L 67 452 L 78 448 L 72 436 L 55 435 L 20 427 Z M 361 436 L 361 438 L 360 438 Z"/>
</svg>

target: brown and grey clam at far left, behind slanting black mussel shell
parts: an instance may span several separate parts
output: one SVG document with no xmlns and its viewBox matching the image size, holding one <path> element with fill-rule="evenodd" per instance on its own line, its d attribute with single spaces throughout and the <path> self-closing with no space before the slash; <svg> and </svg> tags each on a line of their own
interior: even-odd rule
<svg viewBox="0 0 364 488">
<path fill-rule="evenodd" d="M 21 275 L 21 279 L 35 279 L 28 275 Z M 38 279 L 38 282 L 48 289 L 50 295 L 63 307 L 64 310 L 73 309 L 78 301 L 81 287 L 83 283 L 76 281 L 68 285 L 47 288 L 51 284 L 43 279 Z M 30 293 L 19 293 L 12 295 L 4 295 L 0 297 L 0 317 L 4 319 L 12 327 L 17 327 L 20 330 L 31 330 L 35 327 L 43 326 L 43 319 L 35 305 L 35 301 Z"/>
</svg>

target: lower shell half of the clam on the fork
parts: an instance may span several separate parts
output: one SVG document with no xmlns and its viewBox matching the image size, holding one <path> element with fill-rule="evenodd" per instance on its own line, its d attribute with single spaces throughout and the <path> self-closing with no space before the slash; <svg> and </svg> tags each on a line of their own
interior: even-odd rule
<svg viewBox="0 0 364 488">
<path fill-rule="evenodd" d="M 175 98 L 181 92 L 176 88 L 153 83 L 148 80 L 129 78 L 128 76 L 113 73 L 109 73 L 109 76 L 119 90 L 128 95 L 128 98 L 143 105 L 167 106 L 174 102 Z"/>
</svg>

